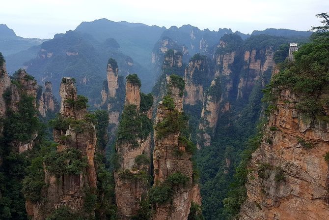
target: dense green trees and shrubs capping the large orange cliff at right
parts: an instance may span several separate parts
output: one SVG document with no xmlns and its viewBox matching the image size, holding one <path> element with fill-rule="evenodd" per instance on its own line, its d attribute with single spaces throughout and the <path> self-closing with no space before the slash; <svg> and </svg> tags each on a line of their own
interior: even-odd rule
<svg viewBox="0 0 329 220">
<path fill-rule="evenodd" d="M 264 90 L 264 101 L 273 106 L 281 91 L 291 90 L 301 99 L 297 109 L 313 118 L 325 116 L 324 107 L 329 103 L 319 96 L 329 88 L 329 33 L 314 33 L 311 40 L 294 53 L 295 62 L 281 64 L 281 71 Z"/>
</svg>

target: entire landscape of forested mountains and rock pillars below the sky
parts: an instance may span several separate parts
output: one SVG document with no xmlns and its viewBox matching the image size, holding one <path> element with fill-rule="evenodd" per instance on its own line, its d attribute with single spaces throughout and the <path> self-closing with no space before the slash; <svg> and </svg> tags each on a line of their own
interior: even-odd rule
<svg viewBox="0 0 329 220">
<path fill-rule="evenodd" d="M 328 32 L 0 31 L 0 219 L 328 216 Z"/>
</svg>

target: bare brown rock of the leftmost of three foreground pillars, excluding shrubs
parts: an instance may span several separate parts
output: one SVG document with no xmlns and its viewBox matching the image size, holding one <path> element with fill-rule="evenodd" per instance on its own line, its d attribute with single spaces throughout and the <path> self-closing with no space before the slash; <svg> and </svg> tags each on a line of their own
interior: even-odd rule
<svg viewBox="0 0 329 220">
<path fill-rule="evenodd" d="M 63 125 L 54 127 L 54 140 L 58 143 L 57 152 L 78 150 L 81 152 L 81 157 L 86 158 L 87 166 L 79 174 L 62 173 L 60 176 L 56 176 L 47 170 L 46 161 L 44 172 L 47 200 L 37 204 L 27 201 L 28 214 L 34 220 L 45 219 L 51 212 L 63 205 L 68 206 L 72 211 L 82 212 L 86 190 L 96 188 L 94 154 L 97 138 L 95 126 L 84 121 L 87 114 L 86 103 L 83 103 L 81 96 L 77 95 L 74 80 L 71 78 L 62 79 L 59 94 L 61 96 L 60 118 L 63 120 L 60 124 L 69 122 L 69 125 L 68 127 L 63 127 Z M 93 216 L 93 210 L 88 215 Z"/>
</svg>

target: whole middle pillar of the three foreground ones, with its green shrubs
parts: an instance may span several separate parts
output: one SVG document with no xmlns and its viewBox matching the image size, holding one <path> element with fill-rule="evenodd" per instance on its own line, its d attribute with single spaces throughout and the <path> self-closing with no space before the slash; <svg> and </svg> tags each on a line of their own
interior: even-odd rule
<svg viewBox="0 0 329 220">
<path fill-rule="evenodd" d="M 147 195 L 150 181 L 151 132 L 147 112 L 140 112 L 140 81 L 136 74 L 128 75 L 126 82 L 125 109 L 118 127 L 116 154 L 118 168 L 114 172 L 115 200 L 120 220 L 130 220 L 137 215 L 142 197 Z M 145 121 L 142 122 L 142 118 Z M 151 122 L 149 125 L 152 126 Z M 144 135 L 141 135 L 141 132 Z M 132 139 L 129 138 L 133 135 Z"/>
</svg>

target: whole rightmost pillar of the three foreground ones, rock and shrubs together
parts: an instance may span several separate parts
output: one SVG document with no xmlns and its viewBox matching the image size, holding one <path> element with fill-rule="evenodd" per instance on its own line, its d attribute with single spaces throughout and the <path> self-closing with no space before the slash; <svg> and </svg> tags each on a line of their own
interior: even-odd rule
<svg viewBox="0 0 329 220">
<path fill-rule="evenodd" d="M 153 188 L 169 187 L 172 190 L 172 197 L 164 198 L 170 200 L 170 202 L 156 202 L 154 204 L 152 219 L 187 220 L 191 203 L 194 202 L 200 205 L 201 198 L 198 184 L 193 183 L 191 143 L 186 137 L 183 137 L 180 128 L 178 128 L 180 126 L 184 127 L 184 123 L 187 123 L 179 119 L 183 114 L 182 88 L 174 83 L 172 77 L 168 77 L 168 80 L 169 95 L 165 96 L 164 100 L 159 103 L 155 118 L 156 131 L 154 133 L 155 146 L 153 151 L 155 185 Z M 183 79 L 181 78 L 181 80 Z M 169 125 L 164 125 L 165 123 L 169 123 Z M 171 127 L 175 123 L 179 124 L 178 127 Z M 168 127 L 171 127 L 174 131 L 171 131 L 171 128 Z M 167 128 L 170 131 L 166 131 Z M 173 184 L 170 182 L 173 176 L 178 176 L 180 181 L 184 180 L 184 183 Z"/>
</svg>

